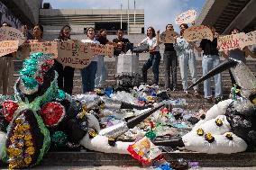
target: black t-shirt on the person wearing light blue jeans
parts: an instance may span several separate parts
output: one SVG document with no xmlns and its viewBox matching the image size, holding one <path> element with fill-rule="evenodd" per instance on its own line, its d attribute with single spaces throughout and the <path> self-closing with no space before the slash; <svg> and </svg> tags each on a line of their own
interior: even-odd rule
<svg viewBox="0 0 256 170">
<path fill-rule="evenodd" d="M 219 55 L 219 51 L 217 49 L 217 38 L 213 41 L 203 39 L 201 40 L 199 47 L 204 50 L 204 55 Z"/>
</svg>

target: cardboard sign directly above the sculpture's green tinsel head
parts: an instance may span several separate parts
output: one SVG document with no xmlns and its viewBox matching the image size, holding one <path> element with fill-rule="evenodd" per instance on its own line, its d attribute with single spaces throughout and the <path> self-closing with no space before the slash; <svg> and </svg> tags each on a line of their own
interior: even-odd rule
<svg viewBox="0 0 256 170">
<path fill-rule="evenodd" d="M 57 41 L 24 43 L 21 46 L 18 58 L 23 60 L 35 52 L 48 53 L 52 55 L 52 58 L 58 58 L 57 44 Z"/>
</svg>

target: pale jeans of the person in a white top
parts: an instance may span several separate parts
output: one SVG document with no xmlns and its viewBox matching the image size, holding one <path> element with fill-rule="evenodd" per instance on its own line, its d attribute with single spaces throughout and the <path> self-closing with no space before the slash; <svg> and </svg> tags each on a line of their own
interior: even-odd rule
<svg viewBox="0 0 256 170">
<path fill-rule="evenodd" d="M 196 83 L 197 81 L 197 67 L 196 67 L 196 57 L 194 51 L 191 49 L 185 49 L 183 53 L 179 53 L 179 68 L 180 68 L 180 76 L 182 81 L 183 90 L 187 90 L 187 69 L 189 67 L 189 71 L 192 77 L 192 82 Z M 188 66 L 188 67 L 187 67 Z M 193 87 L 194 90 L 198 89 L 198 85 Z"/>
</svg>

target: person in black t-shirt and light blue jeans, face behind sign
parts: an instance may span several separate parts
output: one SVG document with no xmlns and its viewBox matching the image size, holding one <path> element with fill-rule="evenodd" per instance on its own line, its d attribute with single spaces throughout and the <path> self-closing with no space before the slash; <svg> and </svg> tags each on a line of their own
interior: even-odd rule
<svg viewBox="0 0 256 170">
<path fill-rule="evenodd" d="M 213 33 L 214 39 L 213 41 L 203 39 L 200 42 L 199 48 L 195 46 L 197 51 L 203 53 L 202 58 L 202 67 L 203 67 L 203 76 L 206 75 L 210 70 L 217 67 L 220 64 L 219 51 L 217 49 L 217 38 L 218 33 L 215 31 L 213 26 L 209 27 Z M 222 76 L 221 74 L 217 74 L 214 76 L 215 80 L 215 103 L 219 103 L 222 101 L 223 96 L 223 88 L 222 88 Z M 211 80 L 207 79 L 204 81 L 204 94 L 207 101 L 212 102 L 212 91 L 211 91 Z"/>
</svg>

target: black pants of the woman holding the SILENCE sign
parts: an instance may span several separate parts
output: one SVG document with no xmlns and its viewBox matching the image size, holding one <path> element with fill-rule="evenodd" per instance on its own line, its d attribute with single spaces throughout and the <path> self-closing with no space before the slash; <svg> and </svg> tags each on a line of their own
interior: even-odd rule
<svg viewBox="0 0 256 170">
<path fill-rule="evenodd" d="M 55 59 L 54 69 L 58 73 L 58 86 L 59 89 L 63 90 L 68 94 L 72 94 L 73 90 L 73 78 L 74 78 L 74 67 L 64 67 Z"/>
</svg>

